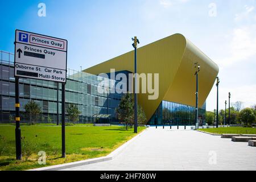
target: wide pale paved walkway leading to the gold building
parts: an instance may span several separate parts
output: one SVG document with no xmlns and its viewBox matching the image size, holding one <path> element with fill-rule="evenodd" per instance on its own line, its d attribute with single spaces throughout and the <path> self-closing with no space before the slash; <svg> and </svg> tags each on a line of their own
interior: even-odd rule
<svg viewBox="0 0 256 182">
<path fill-rule="evenodd" d="M 113 160 L 65 170 L 256 170 L 256 147 L 198 131 L 151 127 Z"/>
</svg>

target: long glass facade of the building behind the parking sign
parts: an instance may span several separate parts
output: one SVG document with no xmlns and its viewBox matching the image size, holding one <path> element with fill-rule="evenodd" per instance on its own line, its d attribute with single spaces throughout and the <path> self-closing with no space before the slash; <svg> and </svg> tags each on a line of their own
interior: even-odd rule
<svg viewBox="0 0 256 182">
<path fill-rule="evenodd" d="M 14 122 L 15 117 L 15 78 L 14 55 L 0 51 L 0 122 Z M 99 93 L 97 86 L 102 77 L 89 73 L 77 72 L 72 69 L 67 71 L 67 84 L 65 85 L 65 109 L 69 104 L 75 104 L 81 111 L 79 121 L 95 122 L 95 115 L 109 115 L 107 121 L 116 121 L 115 107 L 118 106 L 122 94 L 110 92 Z M 117 84 L 116 81 L 106 79 L 108 85 Z M 27 122 L 23 117 L 24 105 L 30 100 L 37 102 L 42 108 L 40 122 L 57 121 L 57 96 L 59 95 L 59 114 L 61 114 L 61 84 L 57 82 L 19 78 L 19 97 L 21 122 Z M 106 117 L 106 116 L 105 116 Z M 60 117 L 61 118 L 61 115 Z M 101 119 L 101 118 L 97 118 Z M 106 118 L 105 118 L 106 119 Z M 102 121 L 104 122 L 104 121 Z"/>
</svg>

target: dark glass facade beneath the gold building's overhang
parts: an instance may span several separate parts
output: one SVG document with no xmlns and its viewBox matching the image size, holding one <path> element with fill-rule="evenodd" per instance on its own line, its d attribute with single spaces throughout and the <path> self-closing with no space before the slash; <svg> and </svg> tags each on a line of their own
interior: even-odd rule
<svg viewBox="0 0 256 182">
<path fill-rule="evenodd" d="M 199 124 L 205 123 L 205 109 L 199 109 Z M 162 101 L 148 125 L 195 125 L 195 107 Z"/>
</svg>

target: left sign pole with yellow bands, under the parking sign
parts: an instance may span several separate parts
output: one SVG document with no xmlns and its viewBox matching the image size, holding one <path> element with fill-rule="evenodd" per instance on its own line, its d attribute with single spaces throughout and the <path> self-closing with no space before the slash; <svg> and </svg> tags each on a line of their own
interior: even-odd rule
<svg viewBox="0 0 256 182">
<path fill-rule="evenodd" d="M 16 110 L 16 117 L 15 117 L 16 160 L 21 160 L 22 146 L 21 146 L 21 130 L 20 130 L 20 116 L 19 116 L 19 78 L 18 77 L 15 77 L 15 110 Z"/>
</svg>

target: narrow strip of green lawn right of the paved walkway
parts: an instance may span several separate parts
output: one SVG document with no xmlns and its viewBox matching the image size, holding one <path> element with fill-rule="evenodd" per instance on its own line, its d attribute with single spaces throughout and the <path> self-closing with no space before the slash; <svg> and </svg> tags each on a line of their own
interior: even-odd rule
<svg viewBox="0 0 256 182">
<path fill-rule="evenodd" d="M 252 127 L 219 127 L 214 129 L 199 129 L 214 134 L 256 134 L 256 128 Z"/>
</svg>

